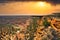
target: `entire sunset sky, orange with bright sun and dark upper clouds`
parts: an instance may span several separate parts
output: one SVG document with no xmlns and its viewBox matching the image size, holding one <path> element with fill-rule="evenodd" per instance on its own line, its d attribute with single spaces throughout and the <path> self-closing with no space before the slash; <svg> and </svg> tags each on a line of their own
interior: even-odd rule
<svg viewBox="0 0 60 40">
<path fill-rule="evenodd" d="M 0 15 L 48 15 L 60 13 L 60 0 L 0 0 Z"/>
</svg>

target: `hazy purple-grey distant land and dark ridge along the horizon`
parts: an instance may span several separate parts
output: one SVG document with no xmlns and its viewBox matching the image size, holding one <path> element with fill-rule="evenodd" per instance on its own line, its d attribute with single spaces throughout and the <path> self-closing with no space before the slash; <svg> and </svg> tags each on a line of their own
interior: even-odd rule
<svg viewBox="0 0 60 40">
<path fill-rule="evenodd" d="M 52 13 L 50 15 L 40 15 L 40 16 L 0 16 L 0 24 L 8 24 L 8 23 L 25 23 L 26 20 L 32 17 L 57 17 L 60 18 L 60 13 Z"/>
</svg>

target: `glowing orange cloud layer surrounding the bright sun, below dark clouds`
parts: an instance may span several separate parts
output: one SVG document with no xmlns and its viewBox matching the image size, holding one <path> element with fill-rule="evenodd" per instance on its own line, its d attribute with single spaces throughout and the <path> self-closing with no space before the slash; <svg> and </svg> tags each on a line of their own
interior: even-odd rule
<svg viewBox="0 0 60 40">
<path fill-rule="evenodd" d="M 51 14 L 54 12 L 60 12 L 60 5 L 50 5 L 40 7 L 39 2 L 11 2 L 0 4 L 0 14 Z"/>
</svg>

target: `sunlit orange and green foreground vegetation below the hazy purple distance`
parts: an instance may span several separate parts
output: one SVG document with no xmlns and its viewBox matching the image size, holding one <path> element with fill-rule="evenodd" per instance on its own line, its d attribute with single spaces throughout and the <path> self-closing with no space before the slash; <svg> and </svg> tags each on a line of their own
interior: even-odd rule
<svg viewBox="0 0 60 40">
<path fill-rule="evenodd" d="M 15 23 L 17 21 L 14 21 L 13 24 L 11 21 L 7 24 L 0 23 L 0 40 L 60 40 L 60 25 L 58 25 L 60 21 L 56 19 L 58 18 L 30 17 L 27 18 L 26 23 L 24 23 L 25 21 L 21 22 L 20 19 L 19 23 Z M 20 28 L 22 28 L 21 31 Z"/>
</svg>

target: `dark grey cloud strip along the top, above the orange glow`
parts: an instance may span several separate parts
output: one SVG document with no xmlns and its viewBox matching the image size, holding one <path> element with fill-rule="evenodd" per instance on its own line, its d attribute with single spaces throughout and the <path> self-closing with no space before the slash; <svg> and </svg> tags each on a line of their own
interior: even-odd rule
<svg viewBox="0 0 60 40">
<path fill-rule="evenodd" d="M 0 0 L 0 3 L 4 3 L 7 1 L 46 1 L 52 4 L 60 4 L 60 0 Z"/>
</svg>

